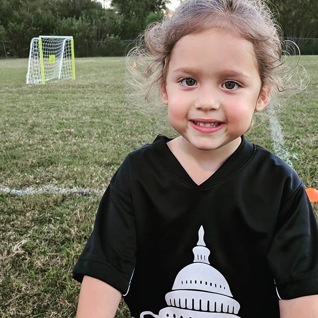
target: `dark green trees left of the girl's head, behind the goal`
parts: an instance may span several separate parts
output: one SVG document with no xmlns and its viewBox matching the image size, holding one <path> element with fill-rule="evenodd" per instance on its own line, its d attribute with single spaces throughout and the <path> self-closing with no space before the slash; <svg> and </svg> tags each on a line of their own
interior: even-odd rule
<svg viewBox="0 0 318 318">
<path fill-rule="evenodd" d="M 7 41 L 15 57 L 26 57 L 32 37 L 39 35 L 73 35 L 78 46 L 116 46 L 160 19 L 167 2 L 112 0 L 110 8 L 103 8 L 97 0 L 0 0 L 0 41 Z"/>
</svg>

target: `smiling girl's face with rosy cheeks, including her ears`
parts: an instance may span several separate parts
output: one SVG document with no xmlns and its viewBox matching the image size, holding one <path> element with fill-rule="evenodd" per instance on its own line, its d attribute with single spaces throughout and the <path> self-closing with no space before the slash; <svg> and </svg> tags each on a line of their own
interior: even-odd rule
<svg viewBox="0 0 318 318">
<path fill-rule="evenodd" d="M 161 90 L 172 127 L 200 150 L 238 145 L 268 95 L 261 89 L 252 44 L 217 28 L 175 44 Z"/>
</svg>

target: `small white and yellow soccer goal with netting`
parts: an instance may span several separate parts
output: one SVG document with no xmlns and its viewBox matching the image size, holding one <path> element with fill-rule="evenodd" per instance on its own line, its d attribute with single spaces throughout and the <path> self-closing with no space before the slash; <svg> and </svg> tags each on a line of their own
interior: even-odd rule
<svg viewBox="0 0 318 318">
<path fill-rule="evenodd" d="M 26 83 L 51 79 L 75 79 L 73 36 L 40 35 L 31 40 Z"/>
</svg>

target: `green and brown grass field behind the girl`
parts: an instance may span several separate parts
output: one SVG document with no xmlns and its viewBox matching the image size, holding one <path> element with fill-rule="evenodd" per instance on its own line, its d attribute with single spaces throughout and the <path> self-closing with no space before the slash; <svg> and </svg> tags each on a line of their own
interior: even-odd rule
<svg viewBox="0 0 318 318">
<path fill-rule="evenodd" d="M 318 188 L 318 57 L 303 57 L 310 85 L 279 114 L 285 147 Z M 132 150 L 152 142 L 153 120 L 130 109 L 123 58 L 76 60 L 77 79 L 26 85 L 27 60 L 0 60 L 0 188 L 105 189 Z M 268 122 L 247 137 L 273 150 Z M 72 267 L 100 194 L 0 193 L 0 317 L 75 316 Z M 314 204 L 315 212 L 318 205 Z M 117 317 L 128 317 L 121 303 Z"/>
</svg>

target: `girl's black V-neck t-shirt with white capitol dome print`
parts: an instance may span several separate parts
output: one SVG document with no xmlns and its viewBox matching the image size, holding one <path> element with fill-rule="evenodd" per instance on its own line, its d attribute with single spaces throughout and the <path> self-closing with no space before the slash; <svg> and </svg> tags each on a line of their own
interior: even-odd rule
<svg viewBox="0 0 318 318">
<path fill-rule="evenodd" d="M 112 285 L 135 318 L 278 318 L 279 298 L 318 294 L 318 226 L 296 173 L 242 137 L 197 185 L 167 141 L 114 174 L 74 278 Z"/>
</svg>

